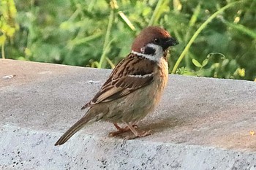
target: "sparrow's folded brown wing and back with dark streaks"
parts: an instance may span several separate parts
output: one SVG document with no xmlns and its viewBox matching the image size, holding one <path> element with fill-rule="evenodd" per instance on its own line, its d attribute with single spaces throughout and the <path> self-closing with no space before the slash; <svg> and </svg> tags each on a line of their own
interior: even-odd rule
<svg viewBox="0 0 256 170">
<path fill-rule="evenodd" d="M 130 54 L 118 63 L 99 92 L 82 109 L 100 102 L 116 100 L 151 84 L 156 66 L 154 61 Z"/>
</svg>

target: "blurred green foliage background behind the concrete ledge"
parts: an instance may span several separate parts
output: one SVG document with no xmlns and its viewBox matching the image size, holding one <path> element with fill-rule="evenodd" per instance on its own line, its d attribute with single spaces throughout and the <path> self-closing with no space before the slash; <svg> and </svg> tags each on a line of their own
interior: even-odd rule
<svg viewBox="0 0 256 170">
<path fill-rule="evenodd" d="M 151 25 L 170 73 L 256 79 L 256 0 L 1 0 L 0 58 L 111 69 Z"/>
</svg>

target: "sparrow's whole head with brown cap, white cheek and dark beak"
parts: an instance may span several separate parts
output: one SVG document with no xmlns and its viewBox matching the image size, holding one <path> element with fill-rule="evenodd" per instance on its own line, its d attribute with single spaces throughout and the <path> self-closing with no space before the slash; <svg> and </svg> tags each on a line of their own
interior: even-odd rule
<svg viewBox="0 0 256 170">
<path fill-rule="evenodd" d="M 132 52 L 159 58 L 163 56 L 168 47 L 174 45 L 178 45 L 178 42 L 165 29 L 148 26 L 136 37 L 132 44 Z"/>
</svg>

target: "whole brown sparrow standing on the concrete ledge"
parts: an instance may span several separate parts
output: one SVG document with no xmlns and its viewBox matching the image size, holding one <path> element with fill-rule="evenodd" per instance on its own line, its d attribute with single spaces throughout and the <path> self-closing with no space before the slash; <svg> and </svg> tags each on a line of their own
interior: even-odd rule
<svg viewBox="0 0 256 170">
<path fill-rule="evenodd" d="M 168 47 L 178 45 L 176 39 L 158 26 L 144 28 L 135 38 L 132 51 L 113 69 L 99 92 L 82 109 L 86 114 L 56 142 L 61 145 L 88 123 L 105 120 L 113 123 L 117 136 L 132 131 L 125 139 L 148 136 L 151 131 L 138 131 L 138 121 L 153 112 L 167 85 Z M 121 128 L 118 123 L 126 125 Z"/>
</svg>

